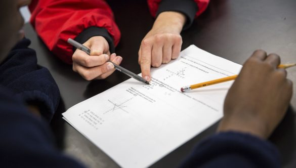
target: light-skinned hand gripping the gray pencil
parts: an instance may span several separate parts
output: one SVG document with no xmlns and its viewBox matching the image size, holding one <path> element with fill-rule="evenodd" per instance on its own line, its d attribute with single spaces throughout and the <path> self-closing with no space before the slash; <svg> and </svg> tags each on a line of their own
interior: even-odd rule
<svg viewBox="0 0 296 168">
<path fill-rule="evenodd" d="M 91 49 L 91 56 L 76 50 L 72 56 L 73 71 L 79 73 L 86 80 L 104 79 L 111 75 L 115 69 L 114 65 L 107 62 L 109 59 L 119 65 L 122 57 L 111 54 L 107 40 L 102 36 L 91 37 L 84 46 Z"/>
</svg>

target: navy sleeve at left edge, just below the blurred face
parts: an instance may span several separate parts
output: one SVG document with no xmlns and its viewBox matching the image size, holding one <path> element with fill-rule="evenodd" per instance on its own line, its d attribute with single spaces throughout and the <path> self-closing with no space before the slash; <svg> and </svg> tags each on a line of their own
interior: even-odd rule
<svg viewBox="0 0 296 168">
<path fill-rule="evenodd" d="M 0 85 L 11 89 L 27 104 L 39 107 L 41 115 L 51 120 L 60 101 L 60 93 L 50 72 L 37 65 L 30 40 L 22 39 L 0 65 Z"/>
</svg>

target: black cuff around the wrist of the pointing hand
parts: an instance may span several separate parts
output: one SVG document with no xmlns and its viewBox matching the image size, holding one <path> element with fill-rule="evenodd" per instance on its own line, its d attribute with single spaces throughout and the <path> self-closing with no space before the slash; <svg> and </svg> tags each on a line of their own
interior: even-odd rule
<svg viewBox="0 0 296 168">
<path fill-rule="evenodd" d="M 159 4 L 156 17 L 161 12 L 166 12 L 166 11 L 181 12 L 187 17 L 187 21 L 183 26 L 183 30 L 185 30 L 191 26 L 197 10 L 198 10 L 198 7 L 193 0 L 162 0 Z"/>
</svg>

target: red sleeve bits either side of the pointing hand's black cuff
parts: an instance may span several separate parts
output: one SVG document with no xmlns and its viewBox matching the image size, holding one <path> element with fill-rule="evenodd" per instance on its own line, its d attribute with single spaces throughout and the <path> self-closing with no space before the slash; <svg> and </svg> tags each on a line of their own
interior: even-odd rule
<svg viewBox="0 0 296 168">
<path fill-rule="evenodd" d="M 161 3 L 161 1 L 163 0 L 148 0 L 148 6 L 150 9 L 150 13 L 153 17 L 156 16 L 159 4 Z M 193 0 L 192 0 L 193 1 Z M 194 0 L 194 2 L 197 5 L 198 11 L 196 12 L 195 16 L 199 16 L 202 12 L 205 11 L 209 0 Z"/>
</svg>

